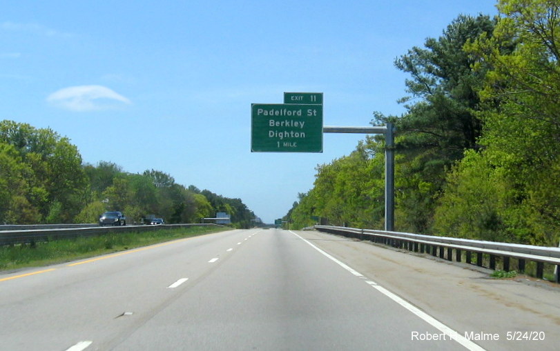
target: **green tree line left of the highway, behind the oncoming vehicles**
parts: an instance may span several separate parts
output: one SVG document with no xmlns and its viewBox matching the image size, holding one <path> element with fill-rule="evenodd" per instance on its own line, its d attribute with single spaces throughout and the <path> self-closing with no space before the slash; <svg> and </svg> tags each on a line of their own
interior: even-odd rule
<svg viewBox="0 0 560 351">
<path fill-rule="evenodd" d="M 128 223 L 150 214 L 167 223 L 200 223 L 226 212 L 238 228 L 255 214 L 230 199 L 175 183 L 170 174 L 124 172 L 107 161 L 83 164 L 77 147 L 49 128 L 0 121 L 0 223 L 96 223 L 106 210 L 122 211 Z"/>
</svg>

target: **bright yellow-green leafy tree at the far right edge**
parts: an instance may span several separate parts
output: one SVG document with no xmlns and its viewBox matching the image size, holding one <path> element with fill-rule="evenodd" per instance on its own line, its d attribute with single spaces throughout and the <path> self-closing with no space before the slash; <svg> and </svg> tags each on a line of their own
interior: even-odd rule
<svg viewBox="0 0 560 351">
<path fill-rule="evenodd" d="M 557 245 L 560 229 L 560 1 L 502 0 L 493 37 L 467 45 L 487 72 L 481 144 L 505 184 L 505 232 Z M 502 43 L 514 44 L 503 50 Z"/>
</svg>

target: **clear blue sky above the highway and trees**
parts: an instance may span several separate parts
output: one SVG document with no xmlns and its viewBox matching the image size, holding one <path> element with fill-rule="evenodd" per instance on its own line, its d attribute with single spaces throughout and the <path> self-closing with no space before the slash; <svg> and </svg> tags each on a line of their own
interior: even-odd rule
<svg viewBox="0 0 560 351">
<path fill-rule="evenodd" d="M 394 59 L 492 0 L 3 1 L 0 119 L 52 128 L 85 163 L 240 198 L 263 221 L 313 187 L 321 154 L 251 153 L 251 103 L 323 92 L 326 126 L 400 115 Z"/>
</svg>

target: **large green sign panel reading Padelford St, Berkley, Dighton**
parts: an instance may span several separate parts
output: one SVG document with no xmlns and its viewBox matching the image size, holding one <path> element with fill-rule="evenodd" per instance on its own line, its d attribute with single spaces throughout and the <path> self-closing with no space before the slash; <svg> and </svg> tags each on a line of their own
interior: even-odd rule
<svg viewBox="0 0 560 351">
<path fill-rule="evenodd" d="M 251 152 L 322 152 L 322 105 L 252 103 Z"/>
</svg>

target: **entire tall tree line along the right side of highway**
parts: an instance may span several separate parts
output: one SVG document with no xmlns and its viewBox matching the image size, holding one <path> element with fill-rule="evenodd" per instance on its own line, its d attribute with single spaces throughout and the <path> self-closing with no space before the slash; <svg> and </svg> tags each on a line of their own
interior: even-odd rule
<svg viewBox="0 0 560 351">
<path fill-rule="evenodd" d="M 396 125 L 400 231 L 558 245 L 560 1 L 500 0 L 499 15 L 460 15 L 395 60 L 409 74 Z M 318 166 L 284 217 L 383 228 L 383 136 Z"/>
</svg>

